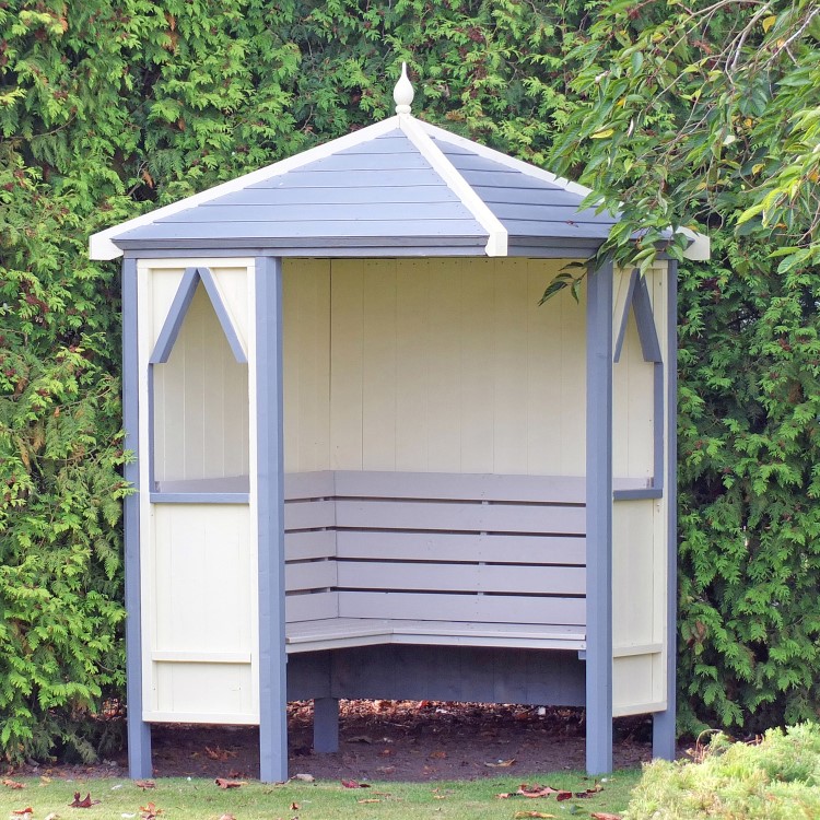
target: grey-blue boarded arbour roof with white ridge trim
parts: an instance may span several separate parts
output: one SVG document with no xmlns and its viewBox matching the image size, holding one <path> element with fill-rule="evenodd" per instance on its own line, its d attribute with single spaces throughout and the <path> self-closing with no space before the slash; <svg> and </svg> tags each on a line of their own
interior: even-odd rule
<svg viewBox="0 0 820 820">
<path fill-rule="evenodd" d="M 589 256 L 616 218 L 589 191 L 401 114 L 95 234 L 140 250 Z"/>
</svg>

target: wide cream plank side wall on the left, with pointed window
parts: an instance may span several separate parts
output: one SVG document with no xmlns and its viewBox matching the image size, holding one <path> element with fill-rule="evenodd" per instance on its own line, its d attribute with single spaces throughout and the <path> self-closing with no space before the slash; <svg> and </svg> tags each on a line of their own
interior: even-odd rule
<svg viewBox="0 0 820 820">
<path fill-rule="evenodd" d="M 253 260 L 139 263 L 141 626 L 143 718 L 149 722 L 258 723 L 254 481 L 248 504 L 157 503 L 157 478 L 253 472 L 248 365 L 236 363 L 203 288 L 197 291 L 168 362 L 154 365 L 149 436 L 149 356 L 189 267 L 213 273 L 232 325 L 254 358 Z M 184 446 L 174 448 L 171 440 Z M 167 444 L 166 444 L 167 443 Z"/>
</svg>

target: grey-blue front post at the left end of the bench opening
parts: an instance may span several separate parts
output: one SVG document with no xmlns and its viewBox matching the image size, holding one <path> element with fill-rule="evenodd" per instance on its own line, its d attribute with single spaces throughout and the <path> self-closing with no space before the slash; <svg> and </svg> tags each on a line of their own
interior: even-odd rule
<svg viewBox="0 0 820 820">
<path fill-rule="evenodd" d="M 282 448 L 282 260 L 256 260 L 256 414 L 259 514 L 259 778 L 288 780 Z"/>
</svg>

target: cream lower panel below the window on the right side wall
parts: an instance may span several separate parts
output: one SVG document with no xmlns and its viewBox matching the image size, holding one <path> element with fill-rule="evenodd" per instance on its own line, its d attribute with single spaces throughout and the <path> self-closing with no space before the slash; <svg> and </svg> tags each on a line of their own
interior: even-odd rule
<svg viewBox="0 0 820 820">
<path fill-rule="evenodd" d="M 649 644 L 656 590 L 654 499 L 619 501 L 612 511 L 612 643 Z"/>
</svg>

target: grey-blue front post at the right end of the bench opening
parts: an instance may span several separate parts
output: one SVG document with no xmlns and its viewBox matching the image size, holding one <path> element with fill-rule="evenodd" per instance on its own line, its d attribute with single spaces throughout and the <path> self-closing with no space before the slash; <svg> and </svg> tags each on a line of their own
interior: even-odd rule
<svg viewBox="0 0 820 820">
<path fill-rule="evenodd" d="M 612 262 L 587 273 L 586 769 L 612 771 Z"/>
</svg>

